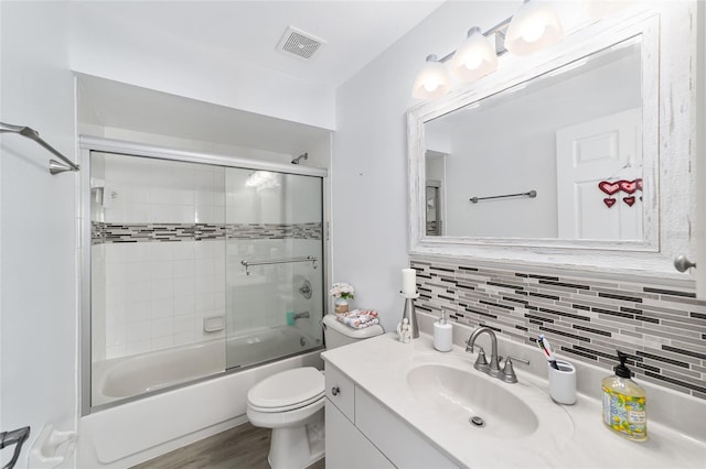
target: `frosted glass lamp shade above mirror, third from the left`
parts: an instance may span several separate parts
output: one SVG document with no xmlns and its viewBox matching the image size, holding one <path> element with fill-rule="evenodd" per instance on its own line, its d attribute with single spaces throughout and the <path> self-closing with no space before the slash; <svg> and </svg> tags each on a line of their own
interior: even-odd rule
<svg viewBox="0 0 706 469">
<path fill-rule="evenodd" d="M 525 0 L 507 26 L 505 48 L 513 55 L 530 55 L 563 39 L 556 11 L 545 2 Z"/>
</svg>

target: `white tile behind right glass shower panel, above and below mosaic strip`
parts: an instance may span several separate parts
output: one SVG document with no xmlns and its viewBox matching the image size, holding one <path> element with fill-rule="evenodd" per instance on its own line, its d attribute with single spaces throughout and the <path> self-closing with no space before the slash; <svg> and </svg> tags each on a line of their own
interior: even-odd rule
<svg viewBox="0 0 706 469">
<path fill-rule="evenodd" d="M 257 177 L 259 176 L 259 178 Z M 260 181 L 259 185 L 254 181 Z M 321 220 L 321 179 L 255 171 L 228 170 L 226 172 L 227 212 L 229 223 L 272 223 L 292 226 Z M 269 234 L 271 236 L 271 234 Z M 321 310 L 320 295 L 306 299 L 299 293 L 304 280 L 314 292 L 321 291 L 320 239 L 232 239 L 228 249 L 228 331 L 232 335 L 261 327 L 280 327 L 286 324 L 288 312 Z M 263 239 L 264 238 L 264 239 Z M 243 260 L 281 259 L 314 255 L 317 269 L 309 262 L 258 265 L 245 274 Z M 293 279 L 293 283 L 292 283 Z M 257 310 L 257 315 L 253 312 Z M 300 320 L 297 327 L 318 336 L 318 323 Z"/>
</svg>

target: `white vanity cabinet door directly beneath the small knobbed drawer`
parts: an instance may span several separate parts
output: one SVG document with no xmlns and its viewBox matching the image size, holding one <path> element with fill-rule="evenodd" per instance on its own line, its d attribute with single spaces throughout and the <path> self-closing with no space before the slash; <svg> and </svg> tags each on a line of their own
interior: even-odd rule
<svg viewBox="0 0 706 469">
<path fill-rule="evenodd" d="M 394 468 L 392 462 L 327 399 L 327 467 Z"/>
</svg>

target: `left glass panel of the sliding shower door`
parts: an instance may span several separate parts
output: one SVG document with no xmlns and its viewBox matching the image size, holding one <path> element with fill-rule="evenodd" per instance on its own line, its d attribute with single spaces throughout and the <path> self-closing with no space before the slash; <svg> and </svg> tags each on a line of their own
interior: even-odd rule
<svg viewBox="0 0 706 469">
<path fill-rule="evenodd" d="M 90 154 L 92 406 L 225 370 L 225 168 Z"/>
</svg>

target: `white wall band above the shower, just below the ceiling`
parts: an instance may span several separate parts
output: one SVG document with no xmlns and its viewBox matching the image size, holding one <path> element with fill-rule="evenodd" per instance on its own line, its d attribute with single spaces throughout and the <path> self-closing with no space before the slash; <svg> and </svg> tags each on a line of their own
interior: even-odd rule
<svg viewBox="0 0 706 469">
<path fill-rule="evenodd" d="M 137 85 L 324 129 L 334 128 L 334 90 L 254 64 L 222 57 L 154 32 L 125 34 L 126 20 L 99 15 L 74 2 L 71 68 Z M 118 9 L 117 3 L 110 8 Z M 118 22 L 122 22 L 121 24 Z M 131 24 L 139 29 L 138 24 Z"/>
</svg>

